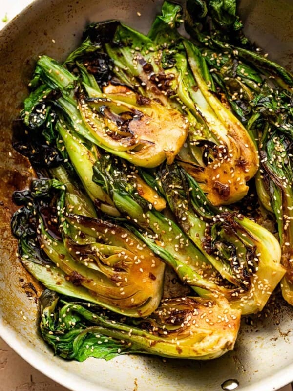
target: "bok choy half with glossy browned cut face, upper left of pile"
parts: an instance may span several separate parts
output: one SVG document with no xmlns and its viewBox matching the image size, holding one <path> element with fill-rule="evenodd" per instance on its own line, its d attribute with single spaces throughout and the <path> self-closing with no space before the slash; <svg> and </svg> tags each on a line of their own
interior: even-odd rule
<svg viewBox="0 0 293 391">
<path fill-rule="evenodd" d="M 57 103 L 70 117 L 74 130 L 89 141 L 143 167 L 156 167 L 166 158 L 171 163 L 180 151 L 188 124 L 179 111 L 164 108 L 131 91 L 118 95 L 112 92 L 108 96 L 87 85 L 90 97 L 80 87 L 75 92 L 76 102 L 73 97 L 76 77 L 46 56 L 40 58 L 38 66 L 44 82 L 62 89 L 63 96 Z M 86 70 L 81 69 L 84 75 Z"/>
</svg>

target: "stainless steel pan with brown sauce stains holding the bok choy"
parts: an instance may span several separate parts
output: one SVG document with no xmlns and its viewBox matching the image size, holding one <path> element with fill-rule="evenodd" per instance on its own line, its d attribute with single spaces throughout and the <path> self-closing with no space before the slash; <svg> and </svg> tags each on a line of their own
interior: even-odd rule
<svg viewBox="0 0 293 391">
<path fill-rule="evenodd" d="M 37 0 L 0 33 L 0 335 L 37 369 L 72 390 L 218 391 L 227 379 L 239 390 L 271 391 L 293 381 L 293 310 L 282 300 L 258 318 L 243 321 L 235 351 L 210 362 L 121 356 L 109 362 L 88 359 L 66 362 L 54 357 L 38 331 L 37 282 L 16 258 L 16 240 L 9 221 L 15 206 L 11 193 L 24 187 L 31 170 L 10 145 L 11 122 L 27 94 L 38 55 L 64 59 L 80 42 L 88 22 L 118 18 L 147 31 L 162 1 Z M 293 2 L 243 0 L 241 14 L 247 34 L 292 66 Z M 141 17 L 137 15 L 141 13 Z M 54 40 L 55 43 L 52 41 Z M 33 297 L 28 297 L 28 291 Z"/>
</svg>

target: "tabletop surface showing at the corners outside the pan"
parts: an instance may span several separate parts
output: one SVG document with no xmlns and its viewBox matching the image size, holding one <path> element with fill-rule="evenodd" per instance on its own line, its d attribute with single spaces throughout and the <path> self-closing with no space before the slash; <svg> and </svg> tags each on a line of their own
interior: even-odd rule
<svg viewBox="0 0 293 391">
<path fill-rule="evenodd" d="M 7 16 L 9 22 L 31 2 L 31 0 L 0 0 L 0 29 L 7 23 L 3 22 L 2 18 L 5 19 Z M 27 364 L 0 338 L 0 391 L 66 390 Z M 291 391 L 291 386 L 286 386 L 279 391 Z"/>
</svg>

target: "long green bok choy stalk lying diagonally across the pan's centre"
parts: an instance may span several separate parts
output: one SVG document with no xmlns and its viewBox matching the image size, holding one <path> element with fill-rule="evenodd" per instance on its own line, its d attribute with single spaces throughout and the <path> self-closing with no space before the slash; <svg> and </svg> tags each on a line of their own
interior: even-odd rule
<svg viewBox="0 0 293 391">
<path fill-rule="evenodd" d="M 94 165 L 93 180 L 111 196 L 126 222 L 134 223 L 134 226 L 126 226 L 167 262 L 183 282 L 191 285 L 198 294 L 205 295 L 206 289 L 217 291 L 213 271 L 207 268 L 206 277 L 198 272 L 201 270 L 200 265 L 207 262 L 206 257 L 193 246 L 174 221 L 156 211 L 139 195 L 133 180 L 134 174 L 135 167 L 105 155 Z"/>
</svg>

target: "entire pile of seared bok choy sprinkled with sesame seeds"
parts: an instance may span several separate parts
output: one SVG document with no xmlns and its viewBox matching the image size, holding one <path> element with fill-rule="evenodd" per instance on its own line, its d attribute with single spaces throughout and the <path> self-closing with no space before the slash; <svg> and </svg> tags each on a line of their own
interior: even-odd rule
<svg viewBox="0 0 293 391">
<path fill-rule="evenodd" d="M 94 23 L 63 64 L 38 59 L 11 227 L 61 357 L 207 360 L 280 281 L 293 303 L 293 79 L 241 28 L 233 0 L 165 1 L 147 35 Z M 254 179 L 279 241 L 234 204 Z"/>
</svg>

